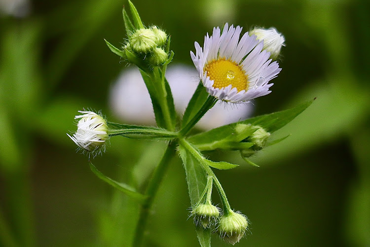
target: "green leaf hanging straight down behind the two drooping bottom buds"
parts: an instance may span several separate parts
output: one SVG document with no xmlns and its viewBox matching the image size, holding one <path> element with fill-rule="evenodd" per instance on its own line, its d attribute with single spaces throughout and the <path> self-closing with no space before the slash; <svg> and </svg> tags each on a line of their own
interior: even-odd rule
<svg viewBox="0 0 370 247">
<path fill-rule="evenodd" d="M 190 203 L 191 205 L 195 205 L 200 200 L 200 197 L 206 187 L 207 176 L 197 159 L 190 152 L 188 152 L 187 149 L 180 145 L 179 151 L 185 168 Z M 211 246 L 211 231 L 209 229 L 205 230 L 197 227 L 196 234 L 199 244 L 202 247 Z"/>
</svg>

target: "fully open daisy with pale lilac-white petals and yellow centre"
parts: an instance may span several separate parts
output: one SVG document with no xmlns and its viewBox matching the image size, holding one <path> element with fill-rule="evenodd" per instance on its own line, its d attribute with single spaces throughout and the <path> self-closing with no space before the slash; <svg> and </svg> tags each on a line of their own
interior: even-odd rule
<svg viewBox="0 0 370 247">
<path fill-rule="evenodd" d="M 262 51 L 263 42 L 245 33 L 239 41 L 242 28 L 226 23 L 221 30 L 213 29 L 205 36 L 204 48 L 195 42 L 196 54 L 190 56 L 207 92 L 219 100 L 245 102 L 264 96 L 281 69 L 270 53 Z"/>
</svg>

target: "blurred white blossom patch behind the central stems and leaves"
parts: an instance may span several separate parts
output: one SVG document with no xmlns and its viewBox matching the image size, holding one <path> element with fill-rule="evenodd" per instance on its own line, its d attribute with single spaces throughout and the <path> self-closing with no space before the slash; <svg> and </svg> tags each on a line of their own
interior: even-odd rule
<svg viewBox="0 0 370 247">
<path fill-rule="evenodd" d="M 198 73 L 192 66 L 170 65 L 166 78 L 172 90 L 176 111 L 183 115 L 199 83 Z M 122 121 L 130 124 L 155 124 L 149 93 L 136 67 L 122 71 L 111 86 L 109 100 L 112 112 Z M 211 129 L 244 120 L 251 116 L 252 112 L 252 104 L 226 105 L 220 102 L 207 112 L 196 126 Z"/>
</svg>

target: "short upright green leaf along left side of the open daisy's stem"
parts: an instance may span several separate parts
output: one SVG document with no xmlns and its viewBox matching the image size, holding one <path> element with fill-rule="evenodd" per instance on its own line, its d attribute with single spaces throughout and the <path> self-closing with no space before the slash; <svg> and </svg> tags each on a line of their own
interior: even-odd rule
<svg viewBox="0 0 370 247">
<path fill-rule="evenodd" d="M 192 119 L 195 116 L 195 114 L 202 108 L 208 96 L 209 94 L 206 91 L 206 88 L 203 86 L 202 83 L 199 83 L 198 87 L 195 89 L 195 92 L 189 101 L 189 104 L 186 107 L 183 117 L 183 123 L 181 124 L 182 127 L 188 124 L 190 119 Z"/>
</svg>

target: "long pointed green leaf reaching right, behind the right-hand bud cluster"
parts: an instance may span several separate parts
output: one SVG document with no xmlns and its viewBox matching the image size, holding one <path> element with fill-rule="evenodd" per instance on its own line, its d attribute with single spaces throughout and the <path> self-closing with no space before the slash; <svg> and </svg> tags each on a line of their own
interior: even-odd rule
<svg viewBox="0 0 370 247">
<path fill-rule="evenodd" d="M 218 128 L 211 129 L 207 132 L 203 132 L 197 135 L 193 135 L 188 140 L 192 142 L 195 146 L 200 148 L 200 146 L 209 148 L 216 147 L 220 148 L 220 141 L 223 139 L 230 138 L 230 136 L 237 135 L 237 125 L 240 124 L 251 124 L 252 126 L 260 126 L 264 128 L 267 132 L 274 132 L 284 125 L 291 122 L 296 116 L 303 112 L 308 106 L 312 104 L 313 100 L 307 101 L 296 106 L 293 109 L 271 113 L 268 115 L 263 115 L 251 119 L 247 119 L 241 122 L 224 125 Z M 250 131 L 253 131 L 251 128 Z M 247 131 L 246 131 L 247 132 Z M 253 133 L 253 132 L 252 132 Z M 222 145 L 221 145 L 222 147 Z M 211 150 L 211 149 L 202 149 L 202 150 Z"/>
</svg>

